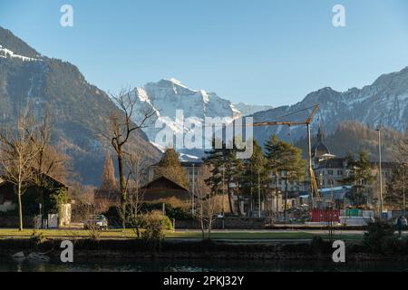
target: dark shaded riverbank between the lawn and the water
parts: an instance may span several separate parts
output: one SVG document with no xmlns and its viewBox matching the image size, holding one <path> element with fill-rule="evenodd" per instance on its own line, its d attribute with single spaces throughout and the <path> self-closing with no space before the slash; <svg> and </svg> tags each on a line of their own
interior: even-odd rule
<svg viewBox="0 0 408 290">
<path fill-rule="evenodd" d="M 47 253 L 59 258 L 62 239 L 45 240 L 36 245 L 31 239 L 0 240 L 0 256 L 17 252 Z M 136 239 L 73 240 L 74 258 L 149 258 L 149 259 L 221 259 L 221 260 L 305 260 L 332 261 L 332 243 L 320 238 L 310 243 L 230 243 L 225 241 L 176 241 L 165 240 L 160 244 Z M 408 261 L 408 251 L 377 254 L 362 242 L 346 242 L 347 261 Z"/>
</svg>

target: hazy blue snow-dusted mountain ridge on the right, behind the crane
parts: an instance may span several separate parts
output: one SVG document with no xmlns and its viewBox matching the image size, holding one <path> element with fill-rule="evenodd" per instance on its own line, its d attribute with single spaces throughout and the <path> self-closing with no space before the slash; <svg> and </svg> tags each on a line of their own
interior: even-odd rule
<svg viewBox="0 0 408 290">
<path fill-rule="evenodd" d="M 332 134 L 345 121 L 357 121 L 375 128 L 379 125 L 395 131 L 405 131 L 408 125 L 408 67 L 397 73 L 380 76 L 362 89 L 352 88 L 336 92 L 323 88 L 309 93 L 302 102 L 253 114 L 254 121 L 306 120 L 313 104 L 319 104 L 312 123 L 316 134 L 320 121 L 326 134 Z M 304 127 L 259 127 L 254 134 L 260 144 L 276 133 L 284 140 L 298 140 L 306 135 Z"/>
</svg>

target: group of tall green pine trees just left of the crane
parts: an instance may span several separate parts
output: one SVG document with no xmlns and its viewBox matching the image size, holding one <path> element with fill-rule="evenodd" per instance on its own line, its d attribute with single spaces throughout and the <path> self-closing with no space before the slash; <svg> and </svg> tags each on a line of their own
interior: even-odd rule
<svg viewBox="0 0 408 290">
<path fill-rule="evenodd" d="M 215 142 L 216 140 L 213 141 L 214 144 Z M 225 144 L 222 149 L 210 150 L 204 160 L 211 172 L 209 179 L 206 179 L 211 193 L 219 194 L 226 190 L 231 213 L 234 213 L 233 193 L 238 196 L 238 200 L 249 198 L 251 208 L 256 204 L 259 208 L 259 195 L 262 198 L 267 194 L 277 195 L 281 180 L 285 181 L 287 189 L 290 182 L 303 179 L 306 174 L 306 160 L 302 159 L 302 151 L 290 143 L 278 140 L 276 135 L 266 142 L 265 153 L 254 140 L 253 154 L 248 160 L 237 159 L 238 146 L 235 145 L 229 146 L 233 148 L 232 150 L 227 149 Z M 273 190 L 269 190 L 271 181 L 275 181 Z M 235 185 L 234 189 L 231 189 L 231 184 Z M 238 214 L 241 212 L 242 208 L 238 208 Z"/>
</svg>

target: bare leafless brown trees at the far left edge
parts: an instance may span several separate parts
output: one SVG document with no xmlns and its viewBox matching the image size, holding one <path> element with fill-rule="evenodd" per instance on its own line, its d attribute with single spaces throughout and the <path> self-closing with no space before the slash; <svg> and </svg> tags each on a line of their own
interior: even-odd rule
<svg viewBox="0 0 408 290">
<path fill-rule="evenodd" d="M 45 190 L 49 190 L 47 176 L 64 181 L 69 172 L 69 158 L 51 143 L 51 118 L 35 118 L 31 104 L 25 108 L 14 125 L 0 130 L 0 162 L 2 179 L 15 189 L 18 203 L 19 230 L 23 230 L 23 202 L 25 191 L 37 189 L 37 200 L 44 204 Z"/>
</svg>

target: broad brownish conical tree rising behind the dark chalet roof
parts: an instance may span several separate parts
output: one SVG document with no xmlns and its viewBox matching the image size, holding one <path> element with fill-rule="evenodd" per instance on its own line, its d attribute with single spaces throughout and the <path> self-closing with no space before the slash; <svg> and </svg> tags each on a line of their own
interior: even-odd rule
<svg viewBox="0 0 408 290">
<path fill-rule="evenodd" d="M 159 168 L 155 173 L 155 178 L 164 176 L 180 184 L 185 189 L 189 189 L 189 179 L 187 178 L 186 171 L 181 167 L 179 154 L 176 150 L 172 148 L 167 149 L 158 165 Z"/>
</svg>

